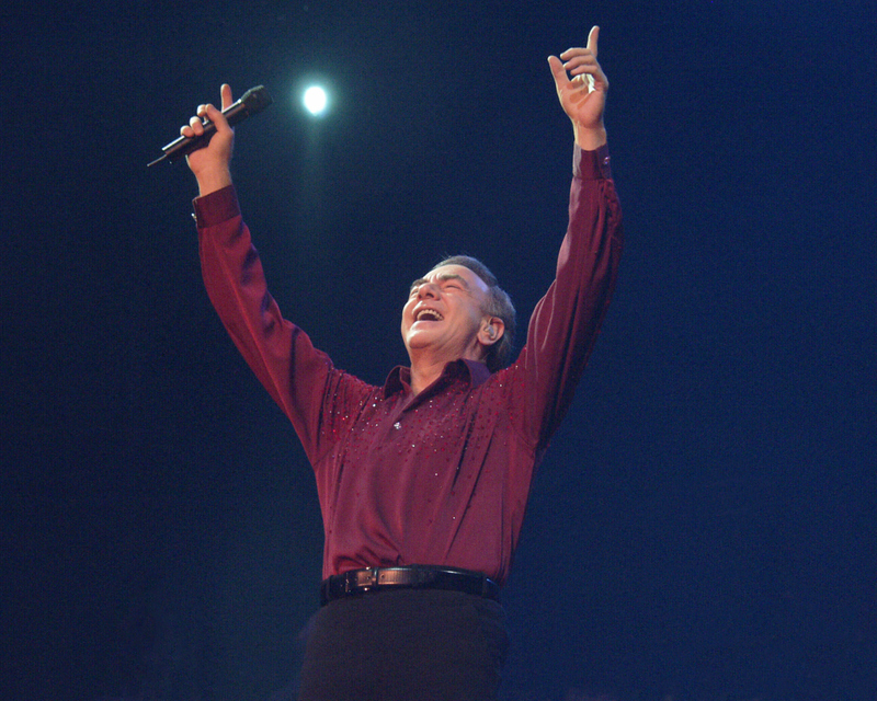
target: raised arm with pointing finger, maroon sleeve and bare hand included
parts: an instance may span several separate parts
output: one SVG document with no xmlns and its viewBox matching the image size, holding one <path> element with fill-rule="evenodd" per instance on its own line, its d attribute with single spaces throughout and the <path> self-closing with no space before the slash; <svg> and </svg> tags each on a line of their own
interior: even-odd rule
<svg viewBox="0 0 877 701">
<path fill-rule="evenodd" d="M 513 410 L 522 433 L 544 448 L 567 413 L 615 286 L 622 252 L 622 211 L 610 170 L 603 108 L 608 81 L 596 61 L 597 27 L 586 48 L 548 60 L 557 94 L 576 137 L 569 227 L 555 280 L 536 304 L 526 345 L 510 371 Z M 569 76 L 568 76 L 569 72 Z M 571 77 L 570 77 L 571 76 Z"/>
</svg>

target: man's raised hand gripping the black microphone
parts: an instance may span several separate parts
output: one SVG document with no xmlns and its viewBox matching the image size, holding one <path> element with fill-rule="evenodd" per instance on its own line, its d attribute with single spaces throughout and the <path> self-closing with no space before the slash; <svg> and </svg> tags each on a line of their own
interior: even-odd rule
<svg viewBox="0 0 877 701">
<path fill-rule="evenodd" d="M 223 110 L 232 103 L 231 88 L 224 84 L 220 88 Z M 228 126 L 223 113 L 212 104 L 198 105 L 196 116 L 189 120 L 189 125 L 180 129 L 182 136 L 192 138 L 204 134 L 202 119 L 209 119 L 216 125 L 216 133 L 206 146 L 192 151 L 185 157 L 189 168 L 198 181 L 198 193 L 207 195 L 226 185 L 231 184 L 231 153 L 235 148 L 235 130 Z"/>
</svg>

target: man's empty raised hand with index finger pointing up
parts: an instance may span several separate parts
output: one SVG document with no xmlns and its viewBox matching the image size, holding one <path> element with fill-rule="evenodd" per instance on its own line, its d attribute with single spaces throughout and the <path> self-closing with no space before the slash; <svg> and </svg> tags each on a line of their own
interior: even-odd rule
<svg viewBox="0 0 877 701">
<path fill-rule="evenodd" d="M 594 150 L 606 142 L 603 110 L 606 106 L 610 81 L 596 60 L 599 35 L 600 27 L 594 26 L 588 35 L 585 48 L 569 48 L 560 54 L 560 58 L 548 57 L 557 96 L 563 112 L 572 120 L 576 142 L 588 150 Z"/>
</svg>

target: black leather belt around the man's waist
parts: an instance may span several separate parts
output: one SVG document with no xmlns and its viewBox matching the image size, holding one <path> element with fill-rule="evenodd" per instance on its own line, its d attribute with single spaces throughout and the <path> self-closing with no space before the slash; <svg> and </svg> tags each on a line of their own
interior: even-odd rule
<svg viewBox="0 0 877 701">
<path fill-rule="evenodd" d="M 454 567 L 369 567 L 335 574 L 320 585 L 320 606 L 345 596 L 383 589 L 444 589 L 500 600 L 500 587 L 480 572 Z"/>
</svg>

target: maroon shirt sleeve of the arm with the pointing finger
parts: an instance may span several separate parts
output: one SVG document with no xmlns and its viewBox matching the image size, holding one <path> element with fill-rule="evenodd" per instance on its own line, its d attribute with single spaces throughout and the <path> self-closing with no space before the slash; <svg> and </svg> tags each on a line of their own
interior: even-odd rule
<svg viewBox="0 0 877 701">
<path fill-rule="evenodd" d="M 576 147 L 569 227 L 557 273 L 536 304 L 524 348 L 510 368 L 513 413 L 535 450 L 544 449 L 572 401 L 615 287 L 622 210 L 607 147 Z M 524 406 L 524 411 L 520 411 Z"/>
</svg>

